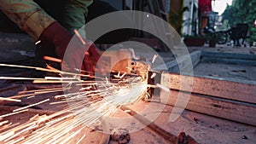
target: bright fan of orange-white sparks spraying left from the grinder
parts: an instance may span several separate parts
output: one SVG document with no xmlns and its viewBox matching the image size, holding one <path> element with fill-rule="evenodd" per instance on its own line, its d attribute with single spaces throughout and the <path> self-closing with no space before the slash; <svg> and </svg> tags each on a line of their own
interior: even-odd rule
<svg viewBox="0 0 256 144">
<path fill-rule="evenodd" d="M 7 130 L 3 129 L 0 136 L 0 143 L 2 141 L 4 143 L 71 143 L 73 138 L 78 136 L 85 128 L 85 126 L 81 126 L 81 122 L 87 126 L 99 124 L 102 118 L 112 117 L 118 112 L 119 107 L 140 101 L 144 95 L 148 95 L 147 80 L 135 75 L 130 77 L 126 72 L 122 75 L 119 72 L 117 77 L 115 77 L 116 83 L 113 83 L 108 78 L 96 78 L 95 81 L 80 80 L 78 77 L 95 77 L 72 72 L 62 72 L 50 66 L 47 66 L 47 68 L 5 64 L 0 64 L 0 66 L 32 68 L 38 71 L 55 72 L 71 76 L 71 78 L 25 78 L 26 80 L 32 80 L 36 84 L 67 83 L 70 85 L 63 88 L 27 90 L 20 92 L 19 95 L 13 96 L 12 99 L 18 97 L 27 97 L 29 99 L 37 95 L 64 90 L 71 92 L 54 96 L 55 99 L 61 99 L 61 101 L 49 102 L 49 99 L 38 101 L 26 107 L 15 109 L 11 113 L 0 116 L 0 118 L 26 112 L 28 111 L 28 107 L 37 106 L 44 102 L 49 102 L 50 105 L 68 103 L 69 107 L 50 115 L 40 116 L 37 114 L 25 124 L 15 125 L 12 129 L 10 127 L 7 127 Z M 79 87 L 78 91 L 72 91 L 75 86 L 85 87 Z M 9 122 L 0 121 L 0 124 L 7 125 Z M 77 143 L 81 143 L 84 137 L 85 135 L 79 138 Z"/>
</svg>

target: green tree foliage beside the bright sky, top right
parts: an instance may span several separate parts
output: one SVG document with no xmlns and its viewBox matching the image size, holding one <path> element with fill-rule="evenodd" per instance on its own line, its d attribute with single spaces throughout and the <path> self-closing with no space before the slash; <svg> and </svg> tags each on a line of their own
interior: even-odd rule
<svg viewBox="0 0 256 144">
<path fill-rule="evenodd" d="M 251 42 L 256 42 L 256 28 L 253 26 L 256 20 L 256 0 L 233 0 L 232 5 L 227 5 L 222 14 L 224 20 L 228 20 L 230 26 L 238 23 L 247 23 L 252 32 Z"/>
</svg>

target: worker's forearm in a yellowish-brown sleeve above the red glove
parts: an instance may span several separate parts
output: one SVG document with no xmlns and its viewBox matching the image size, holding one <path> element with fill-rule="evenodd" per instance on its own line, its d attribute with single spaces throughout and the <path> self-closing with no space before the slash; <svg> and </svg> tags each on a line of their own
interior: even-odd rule
<svg viewBox="0 0 256 144">
<path fill-rule="evenodd" d="M 0 9 L 35 40 L 55 21 L 32 0 L 0 0 Z"/>
</svg>

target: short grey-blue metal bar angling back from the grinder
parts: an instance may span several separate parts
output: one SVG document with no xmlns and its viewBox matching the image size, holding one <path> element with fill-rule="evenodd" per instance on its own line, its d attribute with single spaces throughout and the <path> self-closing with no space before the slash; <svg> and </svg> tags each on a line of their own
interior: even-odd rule
<svg viewBox="0 0 256 144">
<path fill-rule="evenodd" d="M 201 58 L 201 51 L 195 51 L 191 53 L 190 55 L 184 55 L 180 58 L 177 58 L 177 60 L 172 60 L 170 62 L 167 62 L 166 64 L 153 67 L 152 69 L 155 71 L 166 71 L 166 68 L 168 69 L 168 72 L 180 72 L 180 69 L 187 69 L 189 68 L 190 64 L 189 60 L 191 60 L 193 67 L 195 67 L 199 62 Z M 179 63 L 177 63 L 179 61 Z"/>
</svg>

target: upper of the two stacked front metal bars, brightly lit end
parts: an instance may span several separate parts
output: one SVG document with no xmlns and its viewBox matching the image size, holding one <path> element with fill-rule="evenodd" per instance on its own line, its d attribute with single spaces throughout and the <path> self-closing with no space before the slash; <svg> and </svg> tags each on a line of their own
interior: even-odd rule
<svg viewBox="0 0 256 144">
<path fill-rule="evenodd" d="M 191 81 L 193 81 L 193 84 L 189 84 Z M 160 84 L 169 89 L 189 92 L 192 89 L 192 93 L 196 94 L 212 95 L 256 104 L 256 82 L 253 81 L 226 81 L 223 79 L 162 73 Z"/>
</svg>

